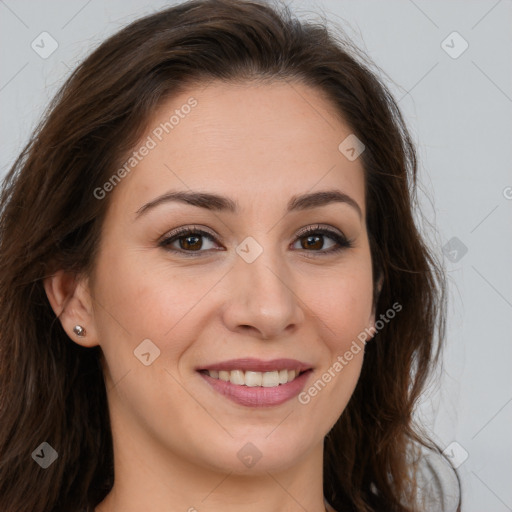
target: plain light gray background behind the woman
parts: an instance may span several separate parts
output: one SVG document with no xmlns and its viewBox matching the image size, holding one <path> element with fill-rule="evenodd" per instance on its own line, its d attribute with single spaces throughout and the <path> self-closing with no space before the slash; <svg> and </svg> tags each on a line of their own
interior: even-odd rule
<svg viewBox="0 0 512 512">
<path fill-rule="evenodd" d="M 108 35 L 173 3 L 0 0 L 2 176 L 70 70 Z M 468 454 L 463 510 L 512 511 L 512 2 L 288 3 L 301 16 L 324 12 L 388 75 L 418 145 L 419 199 L 438 230 L 431 243 L 441 256 L 453 237 L 467 247 L 444 256 L 448 344 L 419 412 L 443 448 L 458 443 L 448 450 L 455 462 Z M 46 59 L 31 48 L 43 31 L 58 42 Z M 453 31 L 469 44 L 455 59 L 441 46 Z M 461 44 L 445 43 L 452 53 Z"/>
</svg>

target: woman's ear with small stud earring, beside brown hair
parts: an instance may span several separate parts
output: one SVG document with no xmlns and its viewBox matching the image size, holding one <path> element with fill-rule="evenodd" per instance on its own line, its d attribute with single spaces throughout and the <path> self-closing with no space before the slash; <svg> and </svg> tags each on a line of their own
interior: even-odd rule
<svg viewBox="0 0 512 512">
<path fill-rule="evenodd" d="M 73 272 L 59 270 L 45 278 L 44 289 L 50 305 L 67 335 L 75 343 L 84 347 L 98 345 L 88 279 L 80 278 Z M 73 331 L 75 325 L 80 325 L 85 329 L 84 336 L 78 336 Z"/>
</svg>

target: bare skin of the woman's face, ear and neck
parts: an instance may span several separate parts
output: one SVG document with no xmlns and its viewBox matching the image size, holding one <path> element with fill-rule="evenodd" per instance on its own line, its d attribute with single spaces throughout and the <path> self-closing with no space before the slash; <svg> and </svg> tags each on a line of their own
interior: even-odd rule
<svg viewBox="0 0 512 512">
<path fill-rule="evenodd" d="M 197 105 L 109 192 L 94 274 L 45 283 L 70 338 L 105 356 L 115 483 L 96 511 L 323 512 L 323 440 L 364 351 L 307 404 L 240 405 L 196 369 L 294 358 L 313 369 L 308 389 L 374 325 L 362 164 L 338 150 L 351 130 L 334 107 L 299 83 L 190 89 L 155 113 L 141 144 L 190 97 Z M 226 196 L 239 211 L 163 201 L 136 213 L 171 190 Z M 286 212 L 293 196 L 330 190 L 357 207 Z M 317 224 L 352 245 L 329 253 L 330 235 L 298 236 Z M 159 245 L 182 226 L 213 239 Z M 247 237 L 262 249 L 251 263 L 236 252 Z M 145 339 L 160 350 L 147 366 L 134 355 Z M 261 454 L 252 467 L 237 456 L 247 443 Z"/>
</svg>

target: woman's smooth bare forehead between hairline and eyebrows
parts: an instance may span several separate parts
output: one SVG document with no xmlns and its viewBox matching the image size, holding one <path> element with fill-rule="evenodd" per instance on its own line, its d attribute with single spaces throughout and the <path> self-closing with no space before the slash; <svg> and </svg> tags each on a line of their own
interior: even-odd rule
<svg viewBox="0 0 512 512">
<path fill-rule="evenodd" d="M 144 156 L 115 193 L 134 206 L 167 189 L 201 190 L 243 209 L 335 187 L 364 212 L 362 163 L 338 149 L 350 134 L 335 106 L 301 83 L 192 87 L 154 113 L 134 148 Z"/>
</svg>

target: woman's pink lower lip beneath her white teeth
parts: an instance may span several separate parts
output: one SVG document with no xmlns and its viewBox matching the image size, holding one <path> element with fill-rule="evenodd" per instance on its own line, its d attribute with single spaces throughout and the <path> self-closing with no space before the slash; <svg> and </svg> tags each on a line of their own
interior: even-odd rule
<svg viewBox="0 0 512 512">
<path fill-rule="evenodd" d="M 270 407 L 280 405 L 297 396 L 304 389 L 311 372 L 312 370 L 307 370 L 291 382 L 272 388 L 238 386 L 231 382 L 214 379 L 207 373 L 199 372 L 199 374 L 215 391 L 237 404 L 247 407 Z"/>
</svg>

